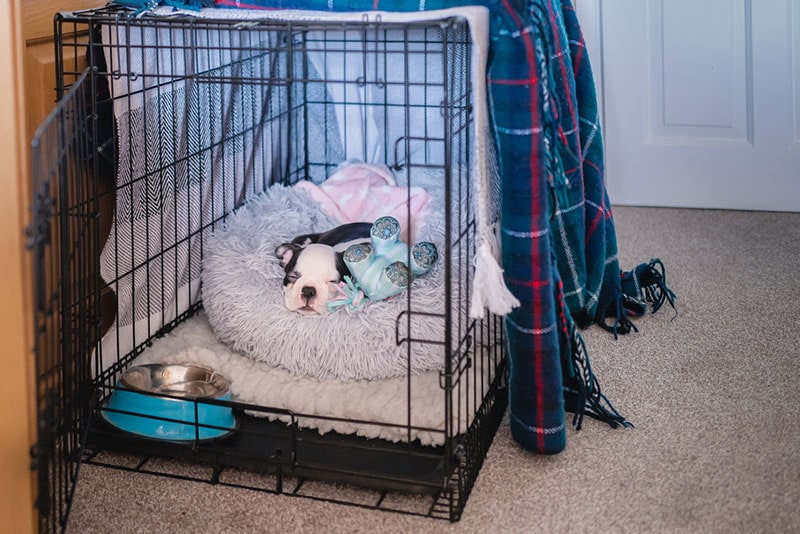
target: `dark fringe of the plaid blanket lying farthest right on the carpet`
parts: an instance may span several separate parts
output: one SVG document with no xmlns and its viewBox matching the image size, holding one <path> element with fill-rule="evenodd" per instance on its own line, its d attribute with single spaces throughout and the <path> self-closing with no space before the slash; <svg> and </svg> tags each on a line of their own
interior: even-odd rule
<svg viewBox="0 0 800 534">
<path fill-rule="evenodd" d="M 641 317 L 647 311 L 647 304 L 653 306 L 656 313 L 664 303 L 675 310 L 673 319 L 678 315 L 675 308 L 675 293 L 667 286 L 666 271 L 660 259 L 652 259 L 650 263 L 642 263 L 635 269 L 621 273 L 623 307 L 633 317 Z"/>
</svg>

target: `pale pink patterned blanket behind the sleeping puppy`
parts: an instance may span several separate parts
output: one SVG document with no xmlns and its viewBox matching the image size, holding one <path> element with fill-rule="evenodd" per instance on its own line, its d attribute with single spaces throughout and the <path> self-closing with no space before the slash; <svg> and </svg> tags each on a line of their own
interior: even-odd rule
<svg viewBox="0 0 800 534">
<path fill-rule="evenodd" d="M 406 243 L 414 242 L 413 236 L 425 224 L 431 200 L 422 188 L 398 186 L 388 167 L 368 163 L 345 165 L 320 185 L 304 181 L 295 187 L 306 191 L 323 212 L 342 224 L 374 222 L 391 215 L 400 222 L 401 239 Z"/>
</svg>

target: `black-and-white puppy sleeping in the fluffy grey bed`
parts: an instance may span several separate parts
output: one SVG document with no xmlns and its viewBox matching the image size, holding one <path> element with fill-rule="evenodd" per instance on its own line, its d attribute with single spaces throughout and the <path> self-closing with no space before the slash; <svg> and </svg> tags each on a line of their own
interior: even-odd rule
<svg viewBox="0 0 800 534">
<path fill-rule="evenodd" d="M 283 278 L 283 299 L 291 311 L 324 314 L 338 284 L 350 271 L 342 258 L 347 247 L 369 242 L 372 223 L 347 223 L 321 234 L 295 237 L 275 249 Z"/>
</svg>

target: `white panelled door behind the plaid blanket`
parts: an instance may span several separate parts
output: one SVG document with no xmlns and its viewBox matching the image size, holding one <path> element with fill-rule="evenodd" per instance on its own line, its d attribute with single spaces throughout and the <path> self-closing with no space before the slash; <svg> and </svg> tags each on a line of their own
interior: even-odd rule
<svg viewBox="0 0 800 534">
<path fill-rule="evenodd" d="M 578 0 L 621 205 L 800 211 L 800 0 Z"/>
</svg>

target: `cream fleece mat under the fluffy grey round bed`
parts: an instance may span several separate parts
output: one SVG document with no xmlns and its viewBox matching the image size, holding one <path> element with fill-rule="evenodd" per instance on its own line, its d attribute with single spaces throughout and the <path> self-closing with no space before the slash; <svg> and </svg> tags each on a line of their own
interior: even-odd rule
<svg viewBox="0 0 800 534">
<path fill-rule="evenodd" d="M 441 445 L 445 431 L 445 393 L 438 372 L 385 380 L 317 380 L 290 373 L 241 356 L 220 343 L 204 314 L 189 319 L 157 339 L 134 365 L 148 363 L 200 364 L 223 374 L 231 385 L 233 400 L 257 406 L 290 410 L 299 426 L 315 428 L 321 434 L 335 431 L 389 441 L 419 439 L 423 445 Z M 484 387 L 470 377 L 470 387 L 456 388 L 453 395 L 453 428 L 465 431 L 477 406 L 473 391 L 486 391 L 494 370 L 480 366 Z M 469 372 L 469 371 L 468 371 Z M 466 381 L 466 379 L 464 379 Z M 409 391 L 410 407 L 409 407 Z M 480 397 L 478 397 L 480 402 Z M 410 414 L 410 434 L 409 434 Z M 288 422 L 286 416 L 252 412 L 271 420 Z M 314 416 L 348 419 L 332 421 Z M 380 426 L 357 421 L 388 423 Z"/>
</svg>

